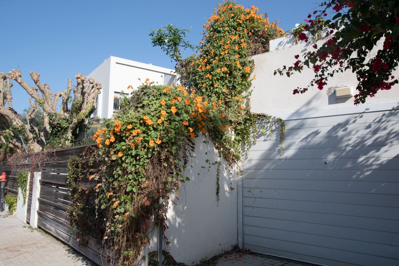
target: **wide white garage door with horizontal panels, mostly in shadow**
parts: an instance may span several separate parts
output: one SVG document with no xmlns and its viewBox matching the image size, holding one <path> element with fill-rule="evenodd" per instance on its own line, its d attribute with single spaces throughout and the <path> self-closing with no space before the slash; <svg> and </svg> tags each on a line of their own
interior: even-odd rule
<svg viewBox="0 0 399 266">
<path fill-rule="evenodd" d="M 273 134 L 258 136 L 243 163 L 244 248 L 334 266 L 399 265 L 399 108 L 375 106 L 286 115 L 283 155 Z"/>
</svg>

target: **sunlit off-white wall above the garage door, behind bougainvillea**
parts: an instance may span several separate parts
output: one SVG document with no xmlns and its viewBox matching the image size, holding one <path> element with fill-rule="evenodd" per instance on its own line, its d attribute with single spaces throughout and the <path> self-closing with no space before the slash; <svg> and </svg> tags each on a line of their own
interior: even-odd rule
<svg viewBox="0 0 399 266">
<path fill-rule="evenodd" d="M 281 39 L 281 40 L 280 40 Z M 283 44 L 284 38 L 275 42 Z M 320 47 L 324 40 L 316 42 Z M 286 42 L 288 44 L 288 42 Z M 279 50 L 253 56 L 255 69 L 253 75 L 256 80 L 252 84 L 251 107 L 256 113 L 290 113 L 296 111 L 308 111 L 327 108 L 338 108 L 354 105 L 354 97 L 336 99 L 334 88 L 352 86 L 356 93 L 358 80 L 352 71 L 336 73 L 334 78 L 329 78 L 327 85 L 320 91 L 317 86 L 310 88 L 306 93 L 293 95 L 292 91 L 297 87 L 307 87 L 314 78 L 314 71 L 304 67 L 302 73 L 294 73 L 291 77 L 285 75 L 273 75 L 275 69 L 282 66 L 292 66 L 296 61 L 295 55 L 312 51 L 315 42 L 300 43 L 294 46 L 280 48 Z M 302 57 L 300 57 L 302 58 Z M 399 71 L 395 72 L 397 76 Z M 395 85 L 389 91 L 379 91 L 375 97 L 367 98 L 367 103 L 381 103 L 399 100 L 399 85 Z"/>
</svg>

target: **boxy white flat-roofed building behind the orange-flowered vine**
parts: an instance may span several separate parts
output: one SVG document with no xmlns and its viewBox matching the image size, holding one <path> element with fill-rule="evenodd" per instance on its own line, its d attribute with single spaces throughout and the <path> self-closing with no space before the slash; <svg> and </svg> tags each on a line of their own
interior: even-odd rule
<svg viewBox="0 0 399 266">
<path fill-rule="evenodd" d="M 173 69 L 110 56 L 87 77 L 93 77 L 102 86 L 93 116 L 110 118 L 119 108 L 119 98 L 130 94 L 147 78 L 155 84 L 168 85 L 175 81 L 176 74 Z M 133 89 L 128 89 L 129 85 Z"/>
</svg>

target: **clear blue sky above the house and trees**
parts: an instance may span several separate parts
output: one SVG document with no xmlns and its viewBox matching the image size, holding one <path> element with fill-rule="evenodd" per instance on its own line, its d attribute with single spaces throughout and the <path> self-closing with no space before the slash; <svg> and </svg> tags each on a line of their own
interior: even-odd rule
<svg viewBox="0 0 399 266">
<path fill-rule="evenodd" d="M 279 20 L 290 30 L 302 23 L 318 0 L 241 0 L 243 6 L 257 6 L 269 19 Z M 29 72 L 40 73 L 40 81 L 53 92 L 62 91 L 67 78 L 89 74 L 109 56 L 155 66 L 174 68 L 174 63 L 148 36 L 150 27 L 176 23 L 191 26 L 187 39 L 201 41 L 202 26 L 217 1 L 122 1 L 68 0 L 18 1 L 0 16 L 2 57 L 0 72 L 19 68 L 22 77 L 34 86 Z M 29 95 L 16 82 L 12 88 L 13 107 L 19 113 L 29 106 Z"/>
</svg>

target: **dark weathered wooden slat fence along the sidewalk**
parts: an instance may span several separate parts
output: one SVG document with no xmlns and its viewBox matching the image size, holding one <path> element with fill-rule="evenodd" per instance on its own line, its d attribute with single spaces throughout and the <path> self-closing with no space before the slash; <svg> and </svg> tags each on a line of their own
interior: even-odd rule
<svg viewBox="0 0 399 266">
<path fill-rule="evenodd" d="M 70 199 L 67 189 L 67 173 L 68 161 L 73 155 L 81 155 L 88 145 L 77 146 L 67 149 L 59 149 L 47 156 L 47 161 L 41 164 L 41 169 L 36 169 L 35 172 L 41 172 L 40 178 L 40 194 L 38 206 L 38 226 L 43 230 L 53 234 L 63 242 L 69 244 L 95 263 L 99 265 L 107 265 L 107 250 L 101 248 L 94 238 L 89 237 L 87 246 L 79 245 L 77 239 L 78 229 L 74 228 L 71 234 L 71 225 L 67 219 L 67 210 Z M 90 146 L 90 145 L 89 145 Z M 93 168 L 99 165 L 93 165 Z M 8 168 L 7 168 L 8 167 Z M 29 167 L 28 167 L 29 168 Z M 10 169 L 5 161 L 0 163 L 0 169 Z M 4 171 L 4 170 L 2 170 Z M 11 171 L 6 171 L 6 174 Z M 12 172 L 14 173 L 14 171 Z M 16 172 L 18 174 L 18 172 Z M 16 180 L 14 174 L 7 175 L 8 181 L 6 184 L 9 193 L 16 194 Z M 30 178 L 30 190 L 28 198 L 28 214 L 27 223 L 30 221 L 30 209 L 32 204 L 32 186 L 34 177 Z M 86 179 L 81 185 L 83 187 L 91 187 L 96 185 L 94 179 L 89 181 Z M 88 206 L 94 205 L 94 199 L 87 200 Z"/>
</svg>

